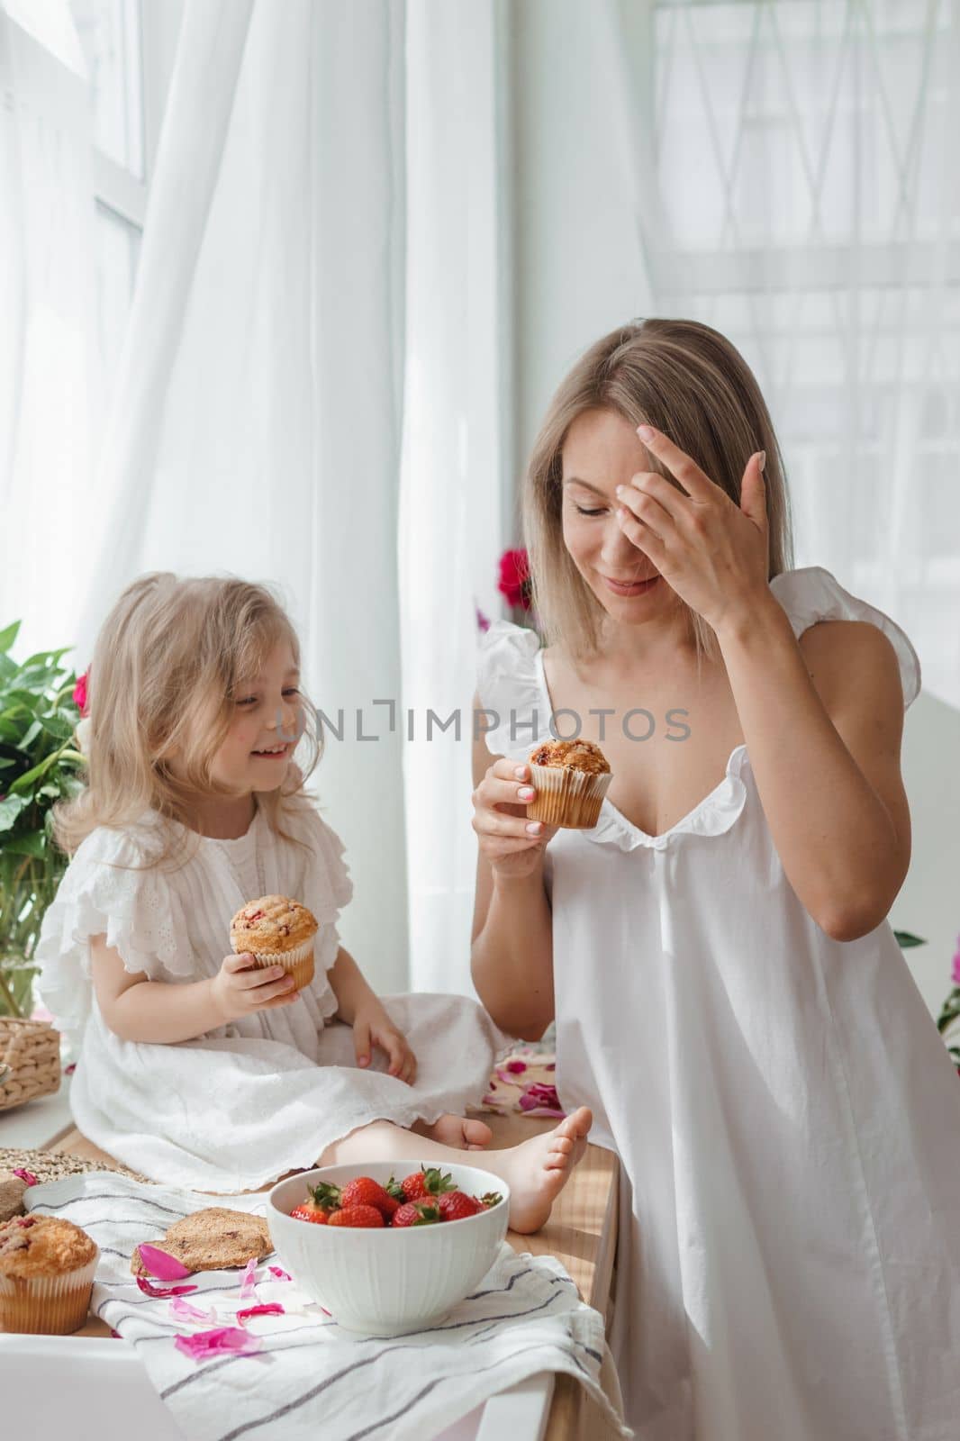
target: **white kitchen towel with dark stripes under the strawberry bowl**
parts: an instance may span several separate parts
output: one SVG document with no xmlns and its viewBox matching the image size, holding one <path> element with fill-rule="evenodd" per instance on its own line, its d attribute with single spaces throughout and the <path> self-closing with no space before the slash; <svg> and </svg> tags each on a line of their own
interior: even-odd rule
<svg viewBox="0 0 960 1441">
<path fill-rule="evenodd" d="M 584 1306 L 552 1257 L 516 1255 L 505 1242 L 477 1290 L 441 1324 L 357 1339 L 280 1267 L 274 1274 L 270 1257 L 245 1285 L 239 1271 L 202 1271 L 187 1295 L 138 1288 L 130 1272 L 138 1242 L 210 1205 L 265 1215 L 262 1192 L 213 1197 L 95 1172 L 32 1186 L 25 1199 L 30 1210 L 65 1216 L 98 1244 L 92 1310 L 135 1347 L 189 1441 L 422 1441 L 545 1370 L 575 1376 L 614 1431 L 630 1435 L 598 1382 L 603 1317 Z M 238 1311 L 257 1306 L 283 1311 L 238 1321 Z M 239 1340 L 255 1349 L 195 1357 L 176 1344 L 210 1330 L 228 1333 L 223 1346 Z"/>
</svg>

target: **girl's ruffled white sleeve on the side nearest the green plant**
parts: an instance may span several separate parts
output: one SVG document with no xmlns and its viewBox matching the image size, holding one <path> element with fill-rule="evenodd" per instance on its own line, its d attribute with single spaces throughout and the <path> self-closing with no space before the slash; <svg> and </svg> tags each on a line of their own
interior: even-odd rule
<svg viewBox="0 0 960 1441">
<path fill-rule="evenodd" d="M 91 1007 L 92 935 L 105 934 L 124 967 L 150 980 L 189 980 L 196 973 L 170 875 L 148 860 L 147 843 L 98 827 L 78 847 L 43 916 L 37 993 L 75 1053 Z"/>
</svg>

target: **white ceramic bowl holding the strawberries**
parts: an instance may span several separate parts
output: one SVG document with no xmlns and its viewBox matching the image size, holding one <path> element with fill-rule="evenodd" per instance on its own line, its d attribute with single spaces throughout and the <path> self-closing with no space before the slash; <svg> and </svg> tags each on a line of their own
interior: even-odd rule
<svg viewBox="0 0 960 1441">
<path fill-rule="evenodd" d="M 290 1216 L 307 1186 L 355 1176 L 383 1185 L 419 1169 L 419 1161 L 323 1166 L 278 1182 L 267 1199 L 270 1235 L 294 1281 L 349 1331 L 401 1336 L 443 1320 L 493 1265 L 507 1229 L 510 1192 L 499 1176 L 474 1166 L 444 1166 L 460 1190 L 503 1200 L 477 1216 L 394 1231 L 317 1226 Z"/>
</svg>

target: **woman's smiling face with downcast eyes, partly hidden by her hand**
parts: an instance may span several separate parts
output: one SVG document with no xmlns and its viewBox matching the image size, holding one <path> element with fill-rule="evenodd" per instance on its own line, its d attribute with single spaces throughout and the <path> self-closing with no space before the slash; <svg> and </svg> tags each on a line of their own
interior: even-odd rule
<svg viewBox="0 0 960 1441">
<path fill-rule="evenodd" d="M 620 529 L 617 486 L 652 470 L 640 437 L 614 411 L 584 411 L 564 441 L 564 543 L 608 615 L 626 624 L 670 602 L 649 556 Z"/>
</svg>

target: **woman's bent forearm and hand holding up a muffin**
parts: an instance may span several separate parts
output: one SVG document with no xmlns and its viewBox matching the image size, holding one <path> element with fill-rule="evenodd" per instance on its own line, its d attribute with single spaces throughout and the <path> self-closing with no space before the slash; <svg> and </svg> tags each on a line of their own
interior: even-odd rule
<svg viewBox="0 0 960 1441">
<path fill-rule="evenodd" d="M 474 697 L 474 709 L 479 705 Z M 529 784 L 529 769 L 523 767 L 520 777 L 503 758 L 493 765 L 490 761 L 483 738 L 474 741 L 474 829 L 480 849 L 470 971 L 497 1026 L 523 1040 L 539 1040 L 554 1019 L 554 922 L 543 885 L 543 855 L 554 833 L 542 829 L 538 839 L 525 833 L 526 807 L 513 793 Z M 499 775 L 497 768 L 505 774 Z M 516 804 L 503 798 L 507 794 Z M 507 820 L 510 816 L 516 820 Z M 494 827 L 502 830 L 500 842 Z M 507 827 L 516 844 L 497 859 L 496 852 L 509 840 Z"/>
</svg>

